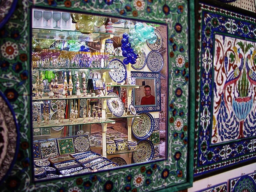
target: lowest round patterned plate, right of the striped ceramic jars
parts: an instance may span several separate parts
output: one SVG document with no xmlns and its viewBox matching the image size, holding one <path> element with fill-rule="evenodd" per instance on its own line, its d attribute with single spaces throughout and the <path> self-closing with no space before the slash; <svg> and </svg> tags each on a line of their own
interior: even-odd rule
<svg viewBox="0 0 256 192">
<path fill-rule="evenodd" d="M 137 145 L 137 151 L 133 152 L 134 163 L 147 162 L 153 159 L 155 149 L 151 141 L 144 139 L 139 141 Z"/>
</svg>

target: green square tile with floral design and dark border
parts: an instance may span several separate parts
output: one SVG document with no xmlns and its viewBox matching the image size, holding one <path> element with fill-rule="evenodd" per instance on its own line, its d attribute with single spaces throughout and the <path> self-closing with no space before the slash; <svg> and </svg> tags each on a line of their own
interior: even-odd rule
<svg viewBox="0 0 256 192">
<path fill-rule="evenodd" d="M 57 139 L 57 142 L 60 155 L 75 153 L 73 138 L 61 138 Z"/>
</svg>

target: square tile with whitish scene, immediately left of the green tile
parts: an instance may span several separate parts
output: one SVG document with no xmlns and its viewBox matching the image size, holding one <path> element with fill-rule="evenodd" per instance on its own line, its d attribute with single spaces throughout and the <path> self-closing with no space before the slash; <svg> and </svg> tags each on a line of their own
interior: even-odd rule
<svg viewBox="0 0 256 192">
<path fill-rule="evenodd" d="M 42 158 L 55 157 L 59 155 L 56 139 L 40 140 L 39 146 Z"/>
</svg>

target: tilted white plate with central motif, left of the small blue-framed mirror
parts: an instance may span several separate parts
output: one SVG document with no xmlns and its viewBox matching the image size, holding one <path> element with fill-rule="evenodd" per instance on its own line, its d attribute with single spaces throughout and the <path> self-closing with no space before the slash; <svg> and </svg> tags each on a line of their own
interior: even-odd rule
<svg viewBox="0 0 256 192">
<path fill-rule="evenodd" d="M 109 92 L 107 95 L 118 96 L 118 94 L 114 92 Z M 119 96 L 117 98 L 107 99 L 107 106 L 110 112 L 115 116 L 120 117 L 123 115 L 123 102 Z"/>
</svg>

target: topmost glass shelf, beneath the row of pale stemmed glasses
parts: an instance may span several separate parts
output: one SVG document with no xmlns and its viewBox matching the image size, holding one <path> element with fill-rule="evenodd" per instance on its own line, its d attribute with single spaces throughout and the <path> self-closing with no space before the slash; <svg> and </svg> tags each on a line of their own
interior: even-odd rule
<svg viewBox="0 0 256 192">
<path fill-rule="evenodd" d="M 124 27 L 115 27 L 115 33 L 93 32 L 91 34 L 83 34 L 80 31 L 33 28 L 32 37 L 36 39 L 80 40 L 96 42 L 100 39 L 108 38 L 110 35 L 113 35 L 114 37 L 121 37 L 125 32 L 129 32 L 129 29 Z"/>
</svg>

